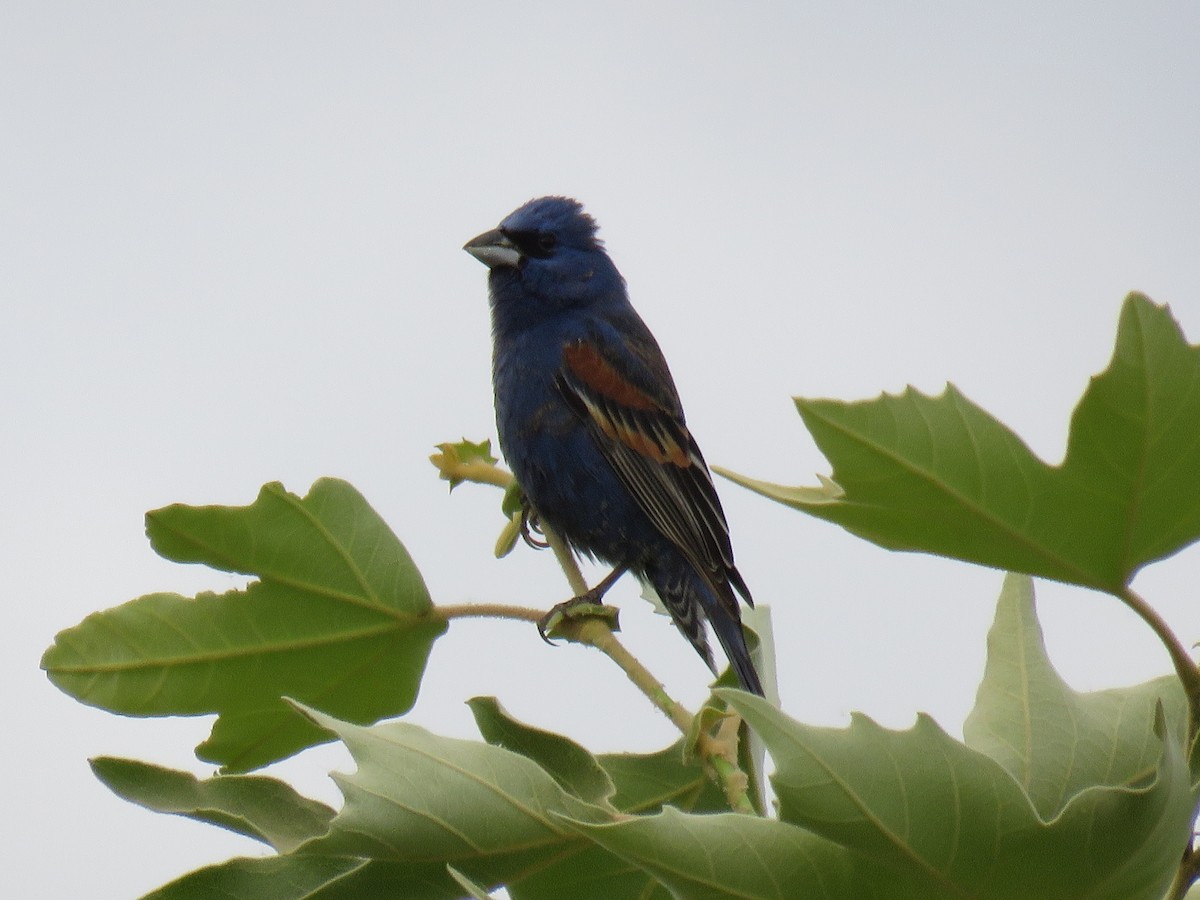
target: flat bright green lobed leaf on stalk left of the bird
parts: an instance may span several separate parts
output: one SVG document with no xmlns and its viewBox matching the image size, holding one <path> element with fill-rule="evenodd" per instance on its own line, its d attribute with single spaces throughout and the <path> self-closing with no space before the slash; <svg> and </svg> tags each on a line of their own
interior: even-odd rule
<svg viewBox="0 0 1200 900">
<path fill-rule="evenodd" d="M 350 485 L 323 479 L 301 499 L 271 484 L 251 506 L 174 505 L 146 521 L 168 559 L 260 581 L 89 616 L 42 658 L 61 690 L 126 715 L 217 713 L 197 754 L 227 770 L 329 739 L 282 696 L 358 722 L 412 707 L 445 623 L 404 547 Z"/>
</svg>

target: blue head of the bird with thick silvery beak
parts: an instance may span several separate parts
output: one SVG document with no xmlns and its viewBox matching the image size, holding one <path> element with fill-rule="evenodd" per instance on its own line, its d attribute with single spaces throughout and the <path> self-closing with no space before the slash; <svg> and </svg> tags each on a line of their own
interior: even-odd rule
<svg viewBox="0 0 1200 900">
<path fill-rule="evenodd" d="M 624 300 L 595 220 L 568 197 L 529 200 L 463 250 L 491 269 L 493 304 L 521 305 L 524 316 Z"/>
</svg>

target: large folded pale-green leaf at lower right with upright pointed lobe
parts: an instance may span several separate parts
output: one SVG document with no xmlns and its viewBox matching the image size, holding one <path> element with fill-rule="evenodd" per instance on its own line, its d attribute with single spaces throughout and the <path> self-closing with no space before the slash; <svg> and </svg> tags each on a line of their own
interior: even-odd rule
<svg viewBox="0 0 1200 900">
<path fill-rule="evenodd" d="M 1166 692 L 1169 726 L 1157 683 L 1127 696 L 1063 694 L 1026 588 L 1013 580 L 1001 598 L 968 730 L 1003 766 L 924 715 L 902 732 L 863 715 L 848 728 L 818 728 L 740 691 L 719 694 L 767 744 L 780 817 L 889 870 L 898 889 L 978 900 L 1160 900 L 1195 808 L 1182 701 Z M 1015 697 L 998 696 L 1014 685 L 1022 685 Z M 1118 710 L 1129 726 L 1098 721 Z M 1057 716 L 1066 721 L 1049 721 Z"/>
</svg>

